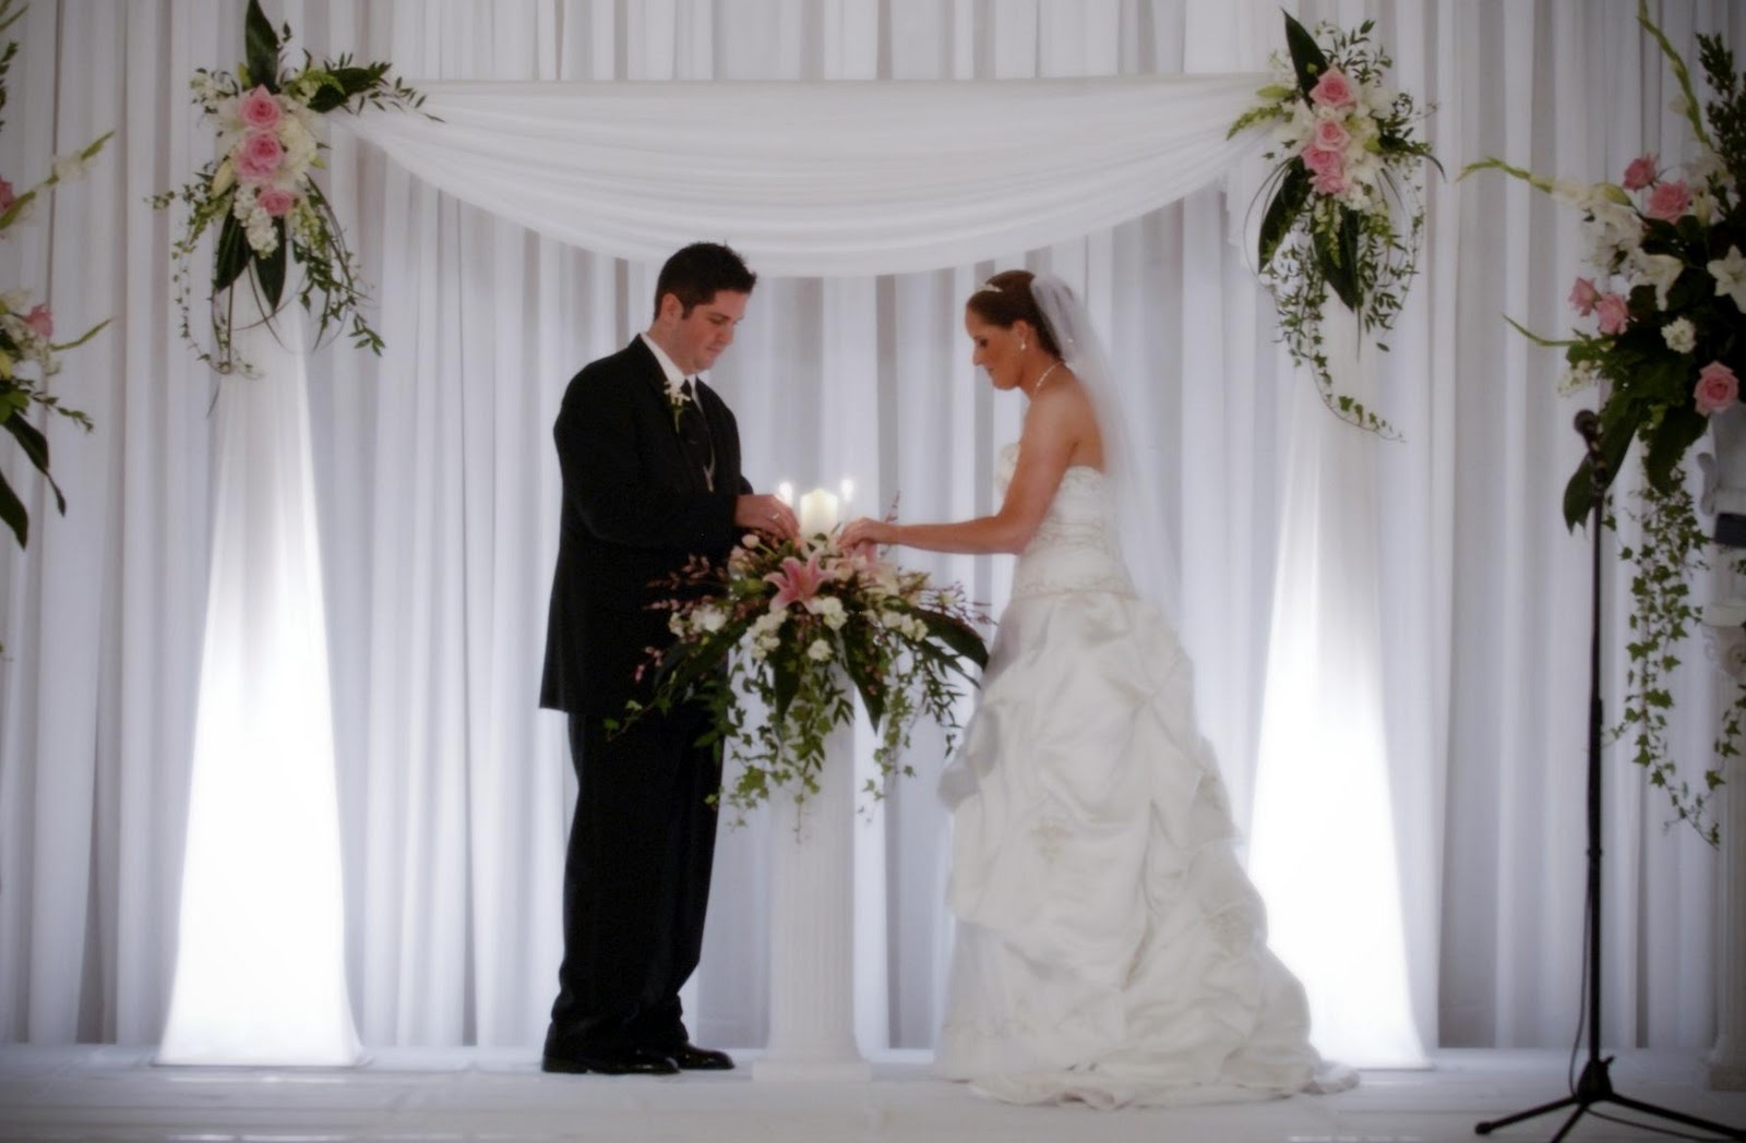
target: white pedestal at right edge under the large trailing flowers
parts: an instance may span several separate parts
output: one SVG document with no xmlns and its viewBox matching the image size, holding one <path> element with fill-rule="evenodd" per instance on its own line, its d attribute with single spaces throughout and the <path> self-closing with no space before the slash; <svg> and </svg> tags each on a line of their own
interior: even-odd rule
<svg viewBox="0 0 1746 1143">
<path fill-rule="evenodd" d="M 1746 682 L 1746 613 L 1727 606 L 1706 609 L 1704 637 L 1716 667 Z M 1730 621 L 1729 625 L 1718 623 Z M 1736 761 L 1734 770 L 1741 766 Z M 1716 949 L 1716 1047 L 1704 1061 L 1715 1091 L 1746 1091 L 1746 775 L 1732 773 L 1713 794 L 1722 827 L 1716 909 L 1722 930 Z"/>
</svg>

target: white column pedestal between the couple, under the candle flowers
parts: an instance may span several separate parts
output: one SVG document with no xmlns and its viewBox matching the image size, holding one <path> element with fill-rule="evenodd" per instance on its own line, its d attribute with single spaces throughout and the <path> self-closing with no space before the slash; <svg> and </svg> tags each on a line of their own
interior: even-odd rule
<svg viewBox="0 0 1746 1143">
<path fill-rule="evenodd" d="M 854 991 L 854 729 L 826 743 L 819 792 L 772 797 L 770 1042 L 754 1080 L 864 1082 Z M 798 829 L 796 829 L 798 824 Z"/>
</svg>

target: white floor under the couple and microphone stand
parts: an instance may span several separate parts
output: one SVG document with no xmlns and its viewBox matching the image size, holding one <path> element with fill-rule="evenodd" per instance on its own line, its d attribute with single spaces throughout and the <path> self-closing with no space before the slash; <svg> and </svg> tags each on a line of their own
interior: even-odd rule
<svg viewBox="0 0 1746 1143">
<path fill-rule="evenodd" d="M 1566 1092 L 1564 1052 L 1446 1051 L 1426 1071 L 1367 1071 L 1337 1096 L 1093 1112 L 1013 1108 L 927 1077 L 925 1054 L 880 1057 L 870 1084 L 550 1077 L 531 1051 L 379 1051 L 351 1070 L 157 1068 L 148 1049 L 0 1045 L 0 1140 L 342 1143 L 634 1140 L 646 1143 L 988 1141 L 1432 1143 Z M 1746 1129 L 1746 1092 L 1708 1091 L 1699 1052 L 1626 1052 L 1619 1094 Z M 1626 1113 L 1608 1105 L 1598 1110 Z M 1549 1140 L 1568 1112 L 1493 1140 Z M 1673 1124 L 1669 1124 L 1673 1126 Z M 1660 1138 L 1584 1115 L 1570 1140 Z M 1685 1138 L 1704 1138 L 1690 1133 Z"/>
</svg>

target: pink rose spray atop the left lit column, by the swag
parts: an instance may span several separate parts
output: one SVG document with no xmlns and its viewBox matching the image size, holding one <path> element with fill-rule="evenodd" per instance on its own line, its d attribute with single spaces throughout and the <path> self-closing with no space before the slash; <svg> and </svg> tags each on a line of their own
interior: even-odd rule
<svg viewBox="0 0 1746 1143">
<path fill-rule="evenodd" d="M 290 264 L 302 267 L 297 298 L 316 316 L 316 339 L 351 323 L 353 344 L 382 351 L 382 339 L 360 312 L 363 286 L 346 234 L 313 175 L 323 166 L 321 115 L 365 106 L 417 108 L 424 96 L 388 75 L 388 63 L 354 65 L 351 56 L 283 70 L 279 51 L 290 24 L 274 31 L 258 0 L 244 17 L 246 59 L 236 75 L 194 73 L 194 101 L 218 129 L 218 157 L 189 183 L 152 199 L 157 208 L 183 202 L 187 225 L 171 253 L 182 337 L 220 373 L 250 372 L 234 346 L 236 290 L 246 286 L 271 328 L 286 304 Z M 201 239 L 217 229 L 211 264 L 211 337 L 208 351 L 194 335 L 189 297 Z M 244 311 L 246 312 L 246 311 Z M 251 318 L 253 314 L 250 314 Z"/>
</svg>

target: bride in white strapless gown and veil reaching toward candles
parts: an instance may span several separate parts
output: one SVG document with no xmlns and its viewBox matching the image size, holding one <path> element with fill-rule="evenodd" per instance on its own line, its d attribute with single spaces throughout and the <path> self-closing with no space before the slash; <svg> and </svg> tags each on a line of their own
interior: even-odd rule
<svg viewBox="0 0 1746 1143">
<path fill-rule="evenodd" d="M 973 361 L 1028 398 L 992 517 L 863 518 L 843 544 L 1014 551 L 976 717 L 941 791 L 957 916 L 936 1071 L 1014 1103 L 1201 1103 L 1332 1091 L 1193 717 L 1191 665 L 1114 541 L 1126 450 L 1084 311 L 995 274 Z"/>
</svg>

